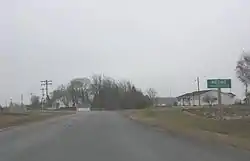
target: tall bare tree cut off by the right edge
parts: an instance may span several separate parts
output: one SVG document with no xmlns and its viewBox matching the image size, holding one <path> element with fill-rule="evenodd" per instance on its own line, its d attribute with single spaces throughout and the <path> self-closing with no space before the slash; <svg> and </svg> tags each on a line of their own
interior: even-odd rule
<svg viewBox="0 0 250 161">
<path fill-rule="evenodd" d="M 250 84 L 250 53 L 243 52 L 236 65 L 236 75 L 245 86 L 246 100 L 248 95 L 248 85 Z"/>
</svg>

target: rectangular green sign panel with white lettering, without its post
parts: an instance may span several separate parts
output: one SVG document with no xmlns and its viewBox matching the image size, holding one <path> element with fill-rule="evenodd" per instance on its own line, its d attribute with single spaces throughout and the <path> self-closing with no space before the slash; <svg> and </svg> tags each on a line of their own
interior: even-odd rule
<svg viewBox="0 0 250 161">
<path fill-rule="evenodd" d="M 231 88 L 231 79 L 208 79 L 207 88 Z"/>
</svg>

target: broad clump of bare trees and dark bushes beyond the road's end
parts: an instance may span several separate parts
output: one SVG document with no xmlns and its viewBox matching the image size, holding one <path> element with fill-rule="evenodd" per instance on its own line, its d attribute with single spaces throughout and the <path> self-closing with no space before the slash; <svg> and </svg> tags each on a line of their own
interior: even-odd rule
<svg viewBox="0 0 250 161">
<path fill-rule="evenodd" d="M 99 74 L 73 79 L 66 85 L 60 85 L 51 93 L 47 104 L 51 106 L 60 99 L 67 107 L 89 104 L 92 109 L 105 110 L 145 108 L 151 106 L 156 97 L 153 88 L 149 88 L 146 93 L 131 81 L 115 80 Z M 34 100 L 37 103 L 37 99 Z"/>
</svg>

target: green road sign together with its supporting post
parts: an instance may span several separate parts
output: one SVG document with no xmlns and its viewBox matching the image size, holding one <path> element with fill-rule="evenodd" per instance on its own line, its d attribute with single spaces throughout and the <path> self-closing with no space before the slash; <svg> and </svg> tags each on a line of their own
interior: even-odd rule
<svg viewBox="0 0 250 161">
<path fill-rule="evenodd" d="M 207 88 L 218 89 L 218 105 L 221 105 L 221 88 L 231 88 L 231 79 L 208 79 Z M 220 117 L 223 118 L 223 107 L 220 106 Z"/>
</svg>

